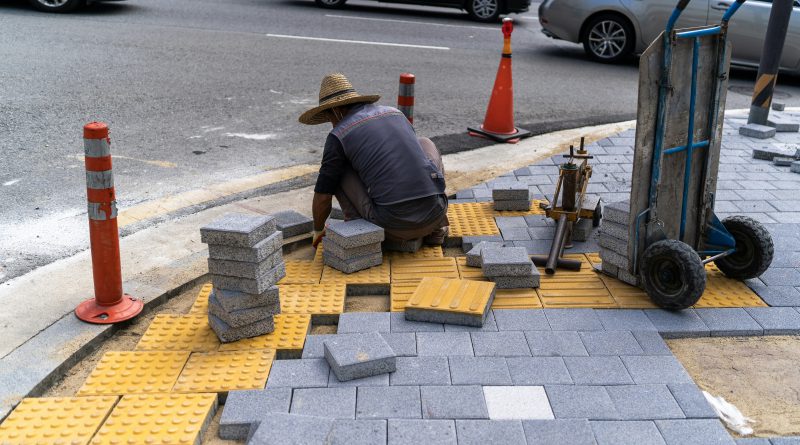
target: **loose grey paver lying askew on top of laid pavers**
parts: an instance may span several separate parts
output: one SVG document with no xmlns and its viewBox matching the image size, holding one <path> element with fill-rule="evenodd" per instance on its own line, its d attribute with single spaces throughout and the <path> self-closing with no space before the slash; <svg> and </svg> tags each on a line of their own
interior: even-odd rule
<svg viewBox="0 0 800 445">
<path fill-rule="evenodd" d="M 340 381 L 395 370 L 395 353 L 378 332 L 350 334 L 323 342 L 325 359 Z"/>
</svg>

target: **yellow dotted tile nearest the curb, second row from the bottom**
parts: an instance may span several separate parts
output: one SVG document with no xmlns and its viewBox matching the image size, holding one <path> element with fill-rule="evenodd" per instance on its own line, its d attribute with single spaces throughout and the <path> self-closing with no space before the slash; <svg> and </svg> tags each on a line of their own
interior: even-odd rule
<svg viewBox="0 0 800 445">
<path fill-rule="evenodd" d="M 78 396 L 168 393 L 188 359 L 188 351 L 106 352 Z"/>
</svg>

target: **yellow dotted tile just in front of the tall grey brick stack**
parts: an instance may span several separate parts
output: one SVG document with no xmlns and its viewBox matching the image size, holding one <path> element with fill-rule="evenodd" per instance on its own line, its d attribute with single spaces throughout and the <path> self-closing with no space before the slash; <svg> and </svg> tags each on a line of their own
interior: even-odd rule
<svg viewBox="0 0 800 445">
<path fill-rule="evenodd" d="M 173 392 L 228 392 L 263 389 L 275 351 L 272 349 L 194 353 Z"/>
</svg>

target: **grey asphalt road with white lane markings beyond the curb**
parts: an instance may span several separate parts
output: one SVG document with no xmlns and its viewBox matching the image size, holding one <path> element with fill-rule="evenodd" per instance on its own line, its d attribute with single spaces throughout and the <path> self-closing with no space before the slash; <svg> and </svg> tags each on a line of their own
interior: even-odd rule
<svg viewBox="0 0 800 445">
<path fill-rule="evenodd" d="M 542 35 L 535 14 L 515 16 L 518 124 L 631 118 L 635 62 L 588 62 L 578 45 Z M 69 15 L 11 0 L 0 30 L 0 282 L 87 247 L 85 122 L 111 125 L 121 206 L 317 162 L 329 128 L 297 116 L 331 71 L 386 104 L 399 73 L 413 72 L 418 133 L 462 149 L 502 46 L 498 26 L 457 10 L 362 0 L 337 11 L 311 0 L 130 0 Z M 734 74 L 730 106 L 748 106 L 753 77 Z M 800 81 L 778 90 L 800 105 Z"/>
</svg>

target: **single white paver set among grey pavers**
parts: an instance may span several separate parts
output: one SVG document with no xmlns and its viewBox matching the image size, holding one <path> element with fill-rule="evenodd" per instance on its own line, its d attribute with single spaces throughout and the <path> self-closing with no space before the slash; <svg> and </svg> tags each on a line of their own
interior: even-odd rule
<svg viewBox="0 0 800 445">
<path fill-rule="evenodd" d="M 553 419 L 541 386 L 484 386 L 483 394 L 492 420 Z"/>
</svg>

